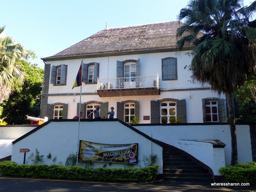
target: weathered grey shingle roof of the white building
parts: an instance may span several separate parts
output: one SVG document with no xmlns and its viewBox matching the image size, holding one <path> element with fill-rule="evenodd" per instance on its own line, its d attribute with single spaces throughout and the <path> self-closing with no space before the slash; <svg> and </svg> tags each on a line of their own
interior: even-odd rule
<svg viewBox="0 0 256 192">
<path fill-rule="evenodd" d="M 130 27 L 105 28 L 51 57 L 174 48 L 176 30 L 179 26 L 179 21 L 172 21 Z M 47 58 L 50 59 L 51 57 Z"/>
</svg>

